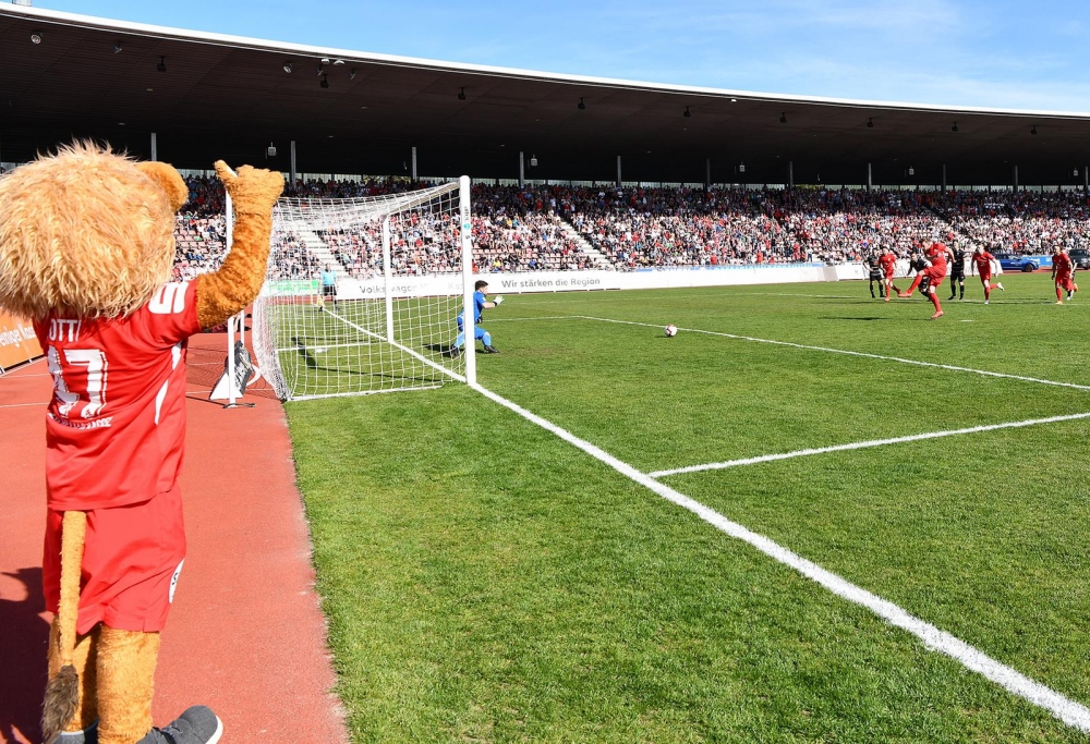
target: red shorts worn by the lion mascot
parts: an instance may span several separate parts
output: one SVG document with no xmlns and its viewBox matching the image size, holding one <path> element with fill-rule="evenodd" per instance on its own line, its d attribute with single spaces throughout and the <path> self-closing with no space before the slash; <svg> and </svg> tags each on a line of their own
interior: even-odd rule
<svg viewBox="0 0 1090 744">
<path fill-rule="evenodd" d="M 43 583 L 46 609 L 55 614 L 63 516 L 53 510 L 46 514 Z M 76 632 L 87 633 L 99 622 L 119 631 L 161 631 L 184 558 L 182 492 L 177 486 L 141 503 L 88 511 Z"/>
</svg>

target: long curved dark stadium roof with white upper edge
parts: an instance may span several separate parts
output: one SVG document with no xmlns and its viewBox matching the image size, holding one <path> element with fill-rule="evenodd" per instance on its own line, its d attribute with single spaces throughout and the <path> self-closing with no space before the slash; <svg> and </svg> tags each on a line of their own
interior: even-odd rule
<svg viewBox="0 0 1090 744">
<path fill-rule="evenodd" d="M 703 182 L 710 160 L 717 183 L 784 183 L 790 162 L 796 183 L 862 184 L 871 163 L 875 184 L 937 184 L 943 166 L 949 184 L 1009 184 L 1018 166 L 1022 185 L 1074 185 L 1090 163 L 1083 112 L 561 75 L 14 4 L 0 5 L 0 48 L 9 162 L 74 136 L 148 157 L 155 132 L 159 158 L 181 168 L 222 157 L 287 171 L 295 141 L 298 170 L 312 173 L 407 173 L 413 146 L 422 176 L 486 179 L 517 178 L 519 151 L 538 160 L 530 179 L 611 181 L 621 156 L 623 180 L 644 182 Z"/>
</svg>

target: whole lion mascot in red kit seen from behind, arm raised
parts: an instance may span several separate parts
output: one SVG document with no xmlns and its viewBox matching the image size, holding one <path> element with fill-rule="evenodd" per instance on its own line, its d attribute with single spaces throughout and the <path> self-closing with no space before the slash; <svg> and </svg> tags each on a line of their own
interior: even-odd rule
<svg viewBox="0 0 1090 744">
<path fill-rule="evenodd" d="M 203 706 L 152 727 L 159 632 L 185 557 L 186 343 L 257 295 L 283 188 L 279 173 L 216 171 L 234 243 L 219 271 L 181 283 L 167 280 L 187 193 L 170 166 L 77 144 L 0 180 L 0 307 L 33 319 L 53 376 L 47 742 L 209 744 L 222 732 Z"/>
</svg>

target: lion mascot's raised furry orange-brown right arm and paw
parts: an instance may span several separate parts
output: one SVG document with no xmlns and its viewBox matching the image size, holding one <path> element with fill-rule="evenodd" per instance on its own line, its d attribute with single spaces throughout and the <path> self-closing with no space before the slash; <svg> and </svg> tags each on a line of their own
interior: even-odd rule
<svg viewBox="0 0 1090 744">
<path fill-rule="evenodd" d="M 254 301 L 265 281 L 272 232 L 272 205 L 283 176 L 250 166 L 231 172 L 222 160 L 216 173 L 234 204 L 234 241 L 219 271 L 197 277 L 197 320 L 214 328 Z"/>
</svg>

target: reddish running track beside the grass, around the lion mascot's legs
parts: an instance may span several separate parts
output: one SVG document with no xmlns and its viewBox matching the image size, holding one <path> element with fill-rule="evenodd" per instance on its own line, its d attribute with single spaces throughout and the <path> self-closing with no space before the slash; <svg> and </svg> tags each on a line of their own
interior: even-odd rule
<svg viewBox="0 0 1090 744">
<path fill-rule="evenodd" d="M 283 408 L 263 382 L 254 408 L 207 401 L 227 341 L 190 345 L 182 493 L 189 550 L 162 633 L 154 716 L 194 704 L 223 742 L 348 741 L 314 590 L 311 544 Z M 252 388 L 253 390 L 253 388 Z M 0 740 L 40 741 L 51 615 L 41 595 L 45 528 L 43 362 L 0 377 Z"/>
</svg>

